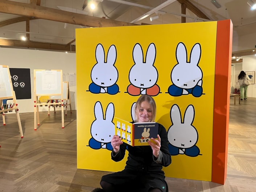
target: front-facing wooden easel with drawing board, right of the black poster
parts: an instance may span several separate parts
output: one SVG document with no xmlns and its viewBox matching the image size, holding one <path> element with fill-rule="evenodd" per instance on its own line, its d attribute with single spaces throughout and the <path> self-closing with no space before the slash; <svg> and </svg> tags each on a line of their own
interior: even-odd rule
<svg viewBox="0 0 256 192">
<path fill-rule="evenodd" d="M 40 96 L 60 99 L 54 103 L 41 103 L 38 100 Z M 62 128 L 64 128 L 62 70 L 34 70 L 34 130 L 40 125 L 38 107 L 43 105 L 48 106 L 48 115 L 50 106 L 61 106 Z"/>
</svg>

